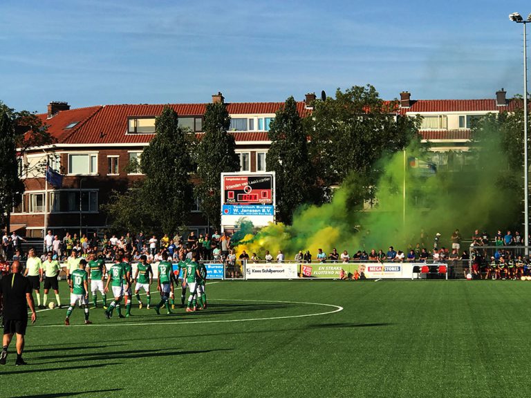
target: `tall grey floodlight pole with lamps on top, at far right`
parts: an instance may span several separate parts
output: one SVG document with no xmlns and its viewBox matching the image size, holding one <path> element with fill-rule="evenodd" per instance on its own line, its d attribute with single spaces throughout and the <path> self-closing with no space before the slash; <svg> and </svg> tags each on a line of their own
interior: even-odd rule
<svg viewBox="0 0 531 398">
<path fill-rule="evenodd" d="M 528 164 L 528 52 L 525 25 L 531 22 L 531 14 L 528 19 L 523 19 L 518 12 L 509 15 L 509 19 L 523 24 L 523 227 L 525 236 L 525 255 L 529 255 L 529 164 Z"/>
</svg>

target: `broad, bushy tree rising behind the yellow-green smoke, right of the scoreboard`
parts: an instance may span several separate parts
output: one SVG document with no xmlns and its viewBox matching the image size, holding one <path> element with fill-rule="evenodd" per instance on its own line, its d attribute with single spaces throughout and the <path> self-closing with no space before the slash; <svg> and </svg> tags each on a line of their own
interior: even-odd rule
<svg viewBox="0 0 531 398">
<path fill-rule="evenodd" d="M 363 176 L 362 196 L 371 199 L 378 180 L 378 160 L 404 149 L 418 137 L 419 121 L 396 117 L 398 102 L 380 99 L 371 85 L 353 86 L 335 98 L 317 100 L 305 127 L 310 136 L 310 158 L 323 188 L 342 184 L 349 174 Z"/>
</svg>

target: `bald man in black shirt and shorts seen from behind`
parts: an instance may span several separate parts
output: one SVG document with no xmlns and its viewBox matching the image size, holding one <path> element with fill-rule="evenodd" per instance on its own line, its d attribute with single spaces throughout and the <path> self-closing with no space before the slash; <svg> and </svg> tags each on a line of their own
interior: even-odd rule
<svg viewBox="0 0 531 398">
<path fill-rule="evenodd" d="M 0 295 L 3 298 L 3 348 L 0 353 L 0 364 L 5 365 L 8 357 L 8 347 L 17 334 L 17 361 L 15 365 L 26 365 L 22 359 L 24 350 L 24 335 L 28 325 L 29 305 L 31 310 L 31 323 L 37 319 L 35 305 L 31 294 L 31 285 L 28 278 L 20 274 L 22 267 L 18 261 L 13 261 L 11 265 L 12 274 L 3 276 L 0 281 Z"/>
</svg>

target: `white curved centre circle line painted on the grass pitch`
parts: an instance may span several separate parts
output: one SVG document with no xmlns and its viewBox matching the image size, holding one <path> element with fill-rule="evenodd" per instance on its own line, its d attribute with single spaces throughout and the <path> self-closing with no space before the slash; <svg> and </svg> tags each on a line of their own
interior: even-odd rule
<svg viewBox="0 0 531 398">
<path fill-rule="evenodd" d="M 234 322 L 252 322 L 252 321 L 272 321 L 275 319 L 292 319 L 305 318 L 308 316 L 321 316 L 327 314 L 335 314 L 343 310 L 340 305 L 325 304 L 325 303 L 308 303 L 305 301 L 281 301 L 281 300 L 248 300 L 248 299 L 211 299 L 210 301 L 251 301 L 254 303 L 287 303 L 287 304 L 306 304 L 306 305 L 322 305 L 325 307 L 333 307 L 335 310 L 326 312 L 317 312 L 314 314 L 300 314 L 300 315 L 285 315 L 285 316 L 267 316 L 265 318 L 247 318 L 247 319 L 217 319 L 209 321 L 176 321 L 176 322 L 142 322 L 142 323 L 96 323 L 91 327 L 113 327 L 113 326 L 145 326 L 145 325 L 187 325 L 193 323 L 234 323 Z M 207 314 L 208 312 L 206 312 Z M 86 328 L 86 325 L 70 325 L 70 328 Z M 64 328 L 64 325 L 35 325 L 33 328 Z"/>
</svg>

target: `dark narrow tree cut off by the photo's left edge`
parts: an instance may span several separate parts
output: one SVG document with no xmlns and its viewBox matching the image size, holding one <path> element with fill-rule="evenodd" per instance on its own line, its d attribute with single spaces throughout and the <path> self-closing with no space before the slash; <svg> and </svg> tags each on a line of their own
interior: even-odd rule
<svg viewBox="0 0 531 398">
<path fill-rule="evenodd" d="M 0 103 L 0 226 L 10 228 L 12 207 L 19 205 L 24 183 L 19 178 L 15 120 Z"/>
</svg>

